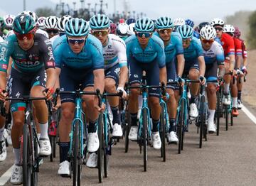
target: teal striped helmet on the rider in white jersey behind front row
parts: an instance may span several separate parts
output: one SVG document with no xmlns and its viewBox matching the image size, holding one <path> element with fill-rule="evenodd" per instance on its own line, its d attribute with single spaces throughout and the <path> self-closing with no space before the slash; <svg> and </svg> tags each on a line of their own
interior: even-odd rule
<svg viewBox="0 0 256 186">
<path fill-rule="evenodd" d="M 103 29 L 110 27 L 110 18 L 104 14 L 97 14 L 90 18 L 90 28 L 91 29 Z"/>
</svg>

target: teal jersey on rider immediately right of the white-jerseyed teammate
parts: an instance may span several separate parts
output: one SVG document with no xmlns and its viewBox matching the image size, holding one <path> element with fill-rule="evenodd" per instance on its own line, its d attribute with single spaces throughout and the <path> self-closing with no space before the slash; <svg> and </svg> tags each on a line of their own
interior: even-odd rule
<svg viewBox="0 0 256 186">
<path fill-rule="evenodd" d="M 156 35 L 149 38 L 149 43 L 146 48 L 142 49 L 136 35 L 131 35 L 125 40 L 127 45 L 127 61 L 135 58 L 142 63 L 149 63 L 156 60 L 160 68 L 166 65 L 166 56 L 164 53 L 164 43 Z"/>
</svg>

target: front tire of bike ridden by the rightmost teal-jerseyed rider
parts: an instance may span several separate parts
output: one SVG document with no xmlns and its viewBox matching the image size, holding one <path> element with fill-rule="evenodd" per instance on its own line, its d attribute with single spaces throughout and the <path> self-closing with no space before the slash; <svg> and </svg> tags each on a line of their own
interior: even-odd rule
<svg viewBox="0 0 256 186">
<path fill-rule="evenodd" d="M 177 123 L 177 131 L 178 131 L 178 153 L 181 153 L 181 148 L 183 146 L 183 123 L 184 123 L 184 106 L 185 102 L 184 99 L 181 99 L 181 107 L 179 110 L 178 115 L 178 123 Z"/>
</svg>

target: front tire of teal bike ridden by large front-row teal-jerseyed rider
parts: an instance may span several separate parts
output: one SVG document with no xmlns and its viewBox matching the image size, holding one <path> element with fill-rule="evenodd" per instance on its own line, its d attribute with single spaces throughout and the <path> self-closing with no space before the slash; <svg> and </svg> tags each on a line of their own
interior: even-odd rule
<svg viewBox="0 0 256 186">
<path fill-rule="evenodd" d="M 80 158 L 79 158 L 79 121 L 75 121 L 73 131 L 73 185 L 80 185 Z"/>
</svg>

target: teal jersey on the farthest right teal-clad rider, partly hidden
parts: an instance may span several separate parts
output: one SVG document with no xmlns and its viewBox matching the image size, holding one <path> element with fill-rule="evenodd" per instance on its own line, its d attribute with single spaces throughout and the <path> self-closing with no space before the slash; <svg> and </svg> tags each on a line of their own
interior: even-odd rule
<svg viewBox="0 0 256 186">
<path fill-rule="evenodd" d="M 198 38 L 193 37 L 188 48 L 184 48 L 184 58 L 185 61 L 191 61 L 199 56 L 203 56 L 202 44 Z"/>
</svg>

